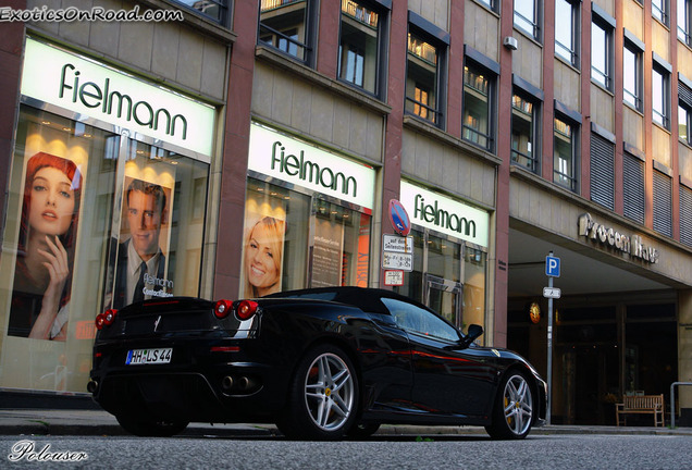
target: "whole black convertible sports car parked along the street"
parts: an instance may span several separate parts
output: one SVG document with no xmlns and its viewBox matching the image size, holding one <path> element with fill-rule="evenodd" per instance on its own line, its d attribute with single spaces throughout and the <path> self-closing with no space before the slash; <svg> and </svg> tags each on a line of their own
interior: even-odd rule
<svg viewBox="0 0 692 470">
<path fill-rule="evenodd" d="M 364 437 L 383 423 L 483 425 L 523 438 L 546 385 L 519 355 L 478 346 L 391 290 L 146 300 L 96 320 L 94 399 L 136 435 L 189 422 L 275 423 L 289 438 Z"/>
</svg>

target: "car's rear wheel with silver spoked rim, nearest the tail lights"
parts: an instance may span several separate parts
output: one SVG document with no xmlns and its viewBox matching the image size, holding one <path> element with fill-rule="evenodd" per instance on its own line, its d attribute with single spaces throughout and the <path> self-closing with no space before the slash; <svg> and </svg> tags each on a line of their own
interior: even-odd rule
<svg viewBox="0 0 692 470">
<path fill-rule="evenodd" d="M 325 344 L 300 360 L 276 425 L 288 438 L 335 441 L 353 426 L 357 412 L 356 368 L 341 348 Z"/>
</svg>

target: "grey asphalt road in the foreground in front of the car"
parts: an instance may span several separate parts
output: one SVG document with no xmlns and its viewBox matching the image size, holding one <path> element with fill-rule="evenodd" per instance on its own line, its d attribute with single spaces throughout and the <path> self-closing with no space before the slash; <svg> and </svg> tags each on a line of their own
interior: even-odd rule
<svg viewBox="0 0 692 470">
<path fill-rule="evenodd" d="M 692 437 L 535 435 L 520 442 L 480 435 L 368 442 L 282 437 L 0 436 L 0 468 L 89 469 L 691 469 Z M 48 446 L 48 447 L 47 447 Z M 29 450 L 30 447 L 30 450 Z M 48 461 L 46 458 L 78 458 Z M 42 461 L 39 461 L 42 460 Z"/>
</svg>

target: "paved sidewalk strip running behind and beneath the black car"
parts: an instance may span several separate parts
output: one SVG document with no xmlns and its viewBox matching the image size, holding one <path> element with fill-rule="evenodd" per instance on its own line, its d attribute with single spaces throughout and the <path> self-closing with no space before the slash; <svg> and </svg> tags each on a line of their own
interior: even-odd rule
<svg viewBox="0 0 692 470">
<path fill-rule="evenodd" d="M 115 418 L 102 410 L 0 409 L 0 435 L 128 435 Z M 277 435 L 270 424 L 205 424 L 193 423 L 182 435 L 227 435 L 238 437 L 271 437 Z M 534 428 L 532 435 L 551 434 L 651 434 L 688 435 L 692 428 L 578 426 L 549 425 Z M 483 435 L 480 426 L 413 426 L 383 425 L 376 435 L 390 436 L 455 436 Z"/>
</svg>

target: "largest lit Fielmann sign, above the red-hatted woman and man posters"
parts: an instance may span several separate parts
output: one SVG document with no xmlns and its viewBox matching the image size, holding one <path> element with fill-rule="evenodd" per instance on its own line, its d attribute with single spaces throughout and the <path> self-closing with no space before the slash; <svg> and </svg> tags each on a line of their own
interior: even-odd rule
<svg viewBox="0 0 692 470">
<path fill-rule="evenodd" d="M 26 39 L 22 95 L 211 156 L 214 108 L 94 60 Z"/>
</svg>

